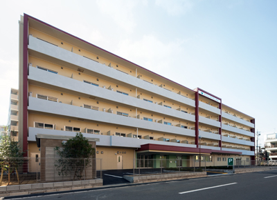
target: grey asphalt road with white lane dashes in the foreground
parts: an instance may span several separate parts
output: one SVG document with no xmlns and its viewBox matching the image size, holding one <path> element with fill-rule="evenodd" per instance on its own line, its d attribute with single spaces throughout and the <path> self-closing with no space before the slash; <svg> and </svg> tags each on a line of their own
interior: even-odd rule
<svg viewBox="0 0 277 200">
<path fill-rule="evenodd" d="M 247 174 L 221 175 L 183 181 L 149 183 L 121 188 L 46 194 L 23 199 L 120 199 L 120 200 L 233 200 L 276 199 L 277 170 Z"/>
</svg>

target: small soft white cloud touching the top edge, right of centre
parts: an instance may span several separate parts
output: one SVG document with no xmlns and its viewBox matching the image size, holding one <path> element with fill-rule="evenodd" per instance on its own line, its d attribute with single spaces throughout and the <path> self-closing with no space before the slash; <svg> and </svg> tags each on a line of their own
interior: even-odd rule
<svg viewBox="0 0 277 200">
<path fill-rule="evenodd" d="M 184 14 L 193 8 L 193 3 L 190 0 L 156 0 L 155 4 L 161 6 L 161 8 L 172 16 Z"/>
</svg>

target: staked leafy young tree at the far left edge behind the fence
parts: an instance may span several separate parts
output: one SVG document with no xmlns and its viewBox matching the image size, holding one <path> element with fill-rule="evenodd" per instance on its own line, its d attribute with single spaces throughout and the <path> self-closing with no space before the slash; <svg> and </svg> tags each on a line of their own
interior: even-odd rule
<svg viewBox="0 0 277 200">
<path fill-rule="evenodd" d="M 22 165 L 24 152 L 19 147 L 19 142 L 10 138 L 10 135 L 5 134 L 0 139 L 0 167 L 1 177 L 0 186 L 3 180 L 3 173 L 8 174 L 8 184 L 10 183 L 10 174 L 16 172 L 17 181 L 19 183 L 18 168 Z"/>
</svg>

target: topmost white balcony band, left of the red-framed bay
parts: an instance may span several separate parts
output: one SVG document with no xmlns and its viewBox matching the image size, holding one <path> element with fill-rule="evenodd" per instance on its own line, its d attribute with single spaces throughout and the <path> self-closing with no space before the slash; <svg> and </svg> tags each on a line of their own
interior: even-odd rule
<svg viewBox="0 0 277 200">
<path fill-rule="evenodd" d="M 74 66 L 80 66 L 85 70 L 102 74 L 109 79 L 122 81 L 123 83 L 127 83 L 135 88 L 141 88 L 142 90 L 147 90 L 148 92 L 152 92 L 153 94 L 158 94 L 162 97 L 166 97 L 166 99 L 172 99 L 174 101 L 178 101 L 179 103 L 184 103 L 188 106 L 195 107 L 195 101 L 193 99 L 188 99 L 175 92 L 164 90 L 163 88 L 143 81 L 142 79 L 137 79 L 136 77 L 132 77 L 131 75 L 115 70 L 114 68 L 109 68 L 108 66 L 105 66 L 96 61 L 86 59 L 78 54 L 75 54 L 68 50 L 64 50 L 63 48 L 59 48 L 57 46 L 53 46 L 52 44 L 46 43 L 35 37 L 29 36 L 28 48 L 30 50 L 45 54 L 49 57 L 58 59 L 60 61 L 70 63 Z"/>
</svg>

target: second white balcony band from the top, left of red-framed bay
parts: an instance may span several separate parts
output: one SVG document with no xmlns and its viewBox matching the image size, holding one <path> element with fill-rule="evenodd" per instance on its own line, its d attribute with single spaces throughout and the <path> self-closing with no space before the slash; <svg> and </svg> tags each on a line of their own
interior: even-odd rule
<svg viewBox="0 0 277 200">
<path fill-rule="evenodd" d="M 170 117 L 177 117 L 179 119 L 184 119 L 186 121 L 195 122 L 195 115 L 193 114 L 181 112 L 179 110 L 175 110 L 172 108 L 166 108 L 164 106 L 160 106 L 155 103 L 143 101 L 142 99 L 130 97 L 98 86 L 89 85 L 82 81 L 71 79 L 69 77 L 64 77 L 59 74 L 46 72 L 44 70 L 39 70 L 37 68 L 33 68 L 33 67 L 29 68 L 28 79 L 32 81 L 46 83 L 53 87 L 64 88 L 65 90 L 71 90 L 72 92 L 79 92 L 82 94 L 86 94 L 86 96 L 89 95 L 93 97 L 99 97 L 105 100 L 109 100 L 112 103 L 116 101 L 118 103 L 123 103 L 127 106 L 133 106 L 134 108 L 150 110 L 151 112 L 166 114 Z"/>
</svg>

